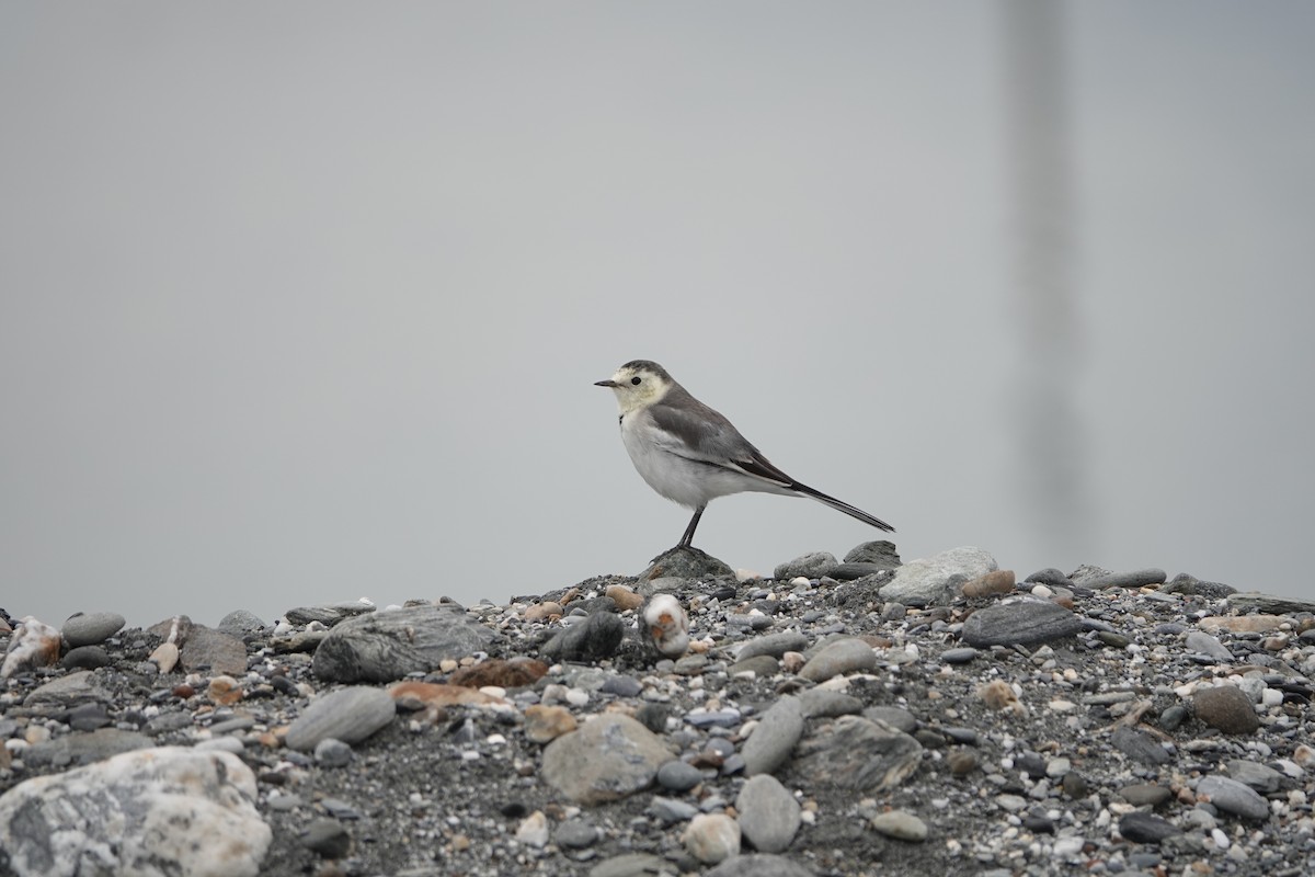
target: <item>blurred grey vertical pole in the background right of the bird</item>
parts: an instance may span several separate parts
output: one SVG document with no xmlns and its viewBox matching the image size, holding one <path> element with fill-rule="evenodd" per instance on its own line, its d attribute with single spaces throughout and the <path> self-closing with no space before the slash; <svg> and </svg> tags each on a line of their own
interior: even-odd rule
<svg viewBox="0 0 1315 877">
<path fill-rule="evenodd" d="M 1014 443 L 1030 543 L 1044 563 L 1089 560 L 1098 542 L 1077 408 L 1081 325 L 1073 293 L 1073 183 L 1065 3 L 1002 0 L 1006 155 L 1014 205 L 1020 367 Z M 1049 552 L 1053 552 L 1052 555 Z"/>
</svg>

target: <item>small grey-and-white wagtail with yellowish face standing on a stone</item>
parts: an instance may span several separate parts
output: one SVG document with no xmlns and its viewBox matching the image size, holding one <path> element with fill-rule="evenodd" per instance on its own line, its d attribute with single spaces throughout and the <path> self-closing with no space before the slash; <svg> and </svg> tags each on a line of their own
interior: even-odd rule
<svg viewBox="0 0 1315 877">
<path fill-rule="evenodd" d="M 800 484 L 772 465 L 729 419 L 690 396 L 658 363 L 629 362 L 596 385 L 617 394 L 621 440 L 648 486 L 694 510 L 677 548 L 690 547 L 710 501 L 744 490 L 809 497 L 894 533 L 885 521 Z"/>
</svg>

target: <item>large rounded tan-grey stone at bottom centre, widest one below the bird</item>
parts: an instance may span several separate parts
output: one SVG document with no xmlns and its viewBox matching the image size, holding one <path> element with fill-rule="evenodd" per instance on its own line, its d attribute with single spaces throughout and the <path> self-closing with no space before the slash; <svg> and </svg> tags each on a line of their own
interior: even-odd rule
<svg viewBox="0 0 1315 877">
<path fill-rule="evenodd" d="M 539 776 L 576 803 L 617 801 L 647 789 L 671 749 L 643 724 L 604 714 L 543 749 Z"/>
</svg>

